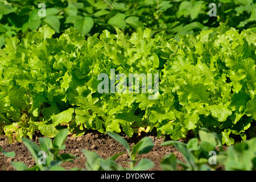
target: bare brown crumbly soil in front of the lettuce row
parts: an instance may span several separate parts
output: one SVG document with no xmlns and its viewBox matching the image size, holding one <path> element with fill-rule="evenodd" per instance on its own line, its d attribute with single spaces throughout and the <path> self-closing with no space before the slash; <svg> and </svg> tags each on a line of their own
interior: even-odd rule
<svg viewBox="0 0 256 182">
<path fill-rule="evenodd" d="M 32 139 L 33 142 L 39 145 L 38 141 L 39 137 L 35 137 Z M 137 143 L 141 137 L 133 137 L 127 138 L 125 137 L 127 142 L 129 142 L 130 146 Z M 160 168 L 160 161 L 167 154 L 173 153 L 176 155 L 176 158 L 183 161 L 182 155 L 180 152 L 173 146 L 160 146 L 160 143 L 164 142 L 163 138 L 157 138 L 155 136 L 151 136 L 152 142 L 154 143 L 154 148 L 148 153 L 139 156 L 141 158 L 148 158 L 155 163 L 154 171 L 162 170 Z M 67 137 L 65 140 L 65 150 L 62 150 L 61 153 L 68 153 L 77 156 L 77 159 L 74 159 L 73 162 L 65 162 L 62 164 L 62 167 L 66 169 L 71 169 L 73 167 L 77 168 L 85 168 L 85 156 L 82 154 L 82 149 L 97 152 L 97 154 L 101 158 L 109 158 L 119 152 L 124 151 L 125 148 L 116 142 L 114 139 L 109 137 L 109 135 L 101 134 L 97 132 L 90 132 L 81 137 Z M 7 158 L 0 152 L 0 170 L 6 171 L 14 171 L 14 168 L 11 166 L 11 162 L 22 162 L 25 163 L 28 167 L 32 167 L 35 165 L 34 160 L 31 157 L 30 152 L 27 150 L 26 146 L 23 143 L 15 142 L 14 144 L 9 143 L 9 138 L 5 135 L 0 135 L 0 146 L 5 151 L 14 151 L 14 158 Z M 127 167 L 127 162 L 129 162 L 129 156 L 127 153 L 119 156 L 115 162 L 121 164 L 123 167 Z"/>
</svg>

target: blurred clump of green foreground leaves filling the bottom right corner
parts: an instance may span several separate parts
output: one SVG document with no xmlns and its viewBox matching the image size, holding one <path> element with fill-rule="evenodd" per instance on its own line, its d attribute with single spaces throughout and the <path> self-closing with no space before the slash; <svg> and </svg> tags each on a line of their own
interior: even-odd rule
<svg viewBox="0 0 256 182">
<path fill-rule="evenodd" d="M 160 166 L 166 171 L 178 170 L 177 164 L 183 167 L 182 170 L 189 171 L 216 170 L 216 166 L 219 165 L 225 171 L 254 171 L 256 169 L 255 141 L 255 138 L 251 138 L 223 150 L 221 139 L 216 133 L 201 129 L 199 138 L 192 138 L 188 143 L 163 142 L 161 146 L 175 146 L 183 155 L 185 163 L 177 160 L 174 154 L 168 154 L 164 156 Z"/>
</svg>

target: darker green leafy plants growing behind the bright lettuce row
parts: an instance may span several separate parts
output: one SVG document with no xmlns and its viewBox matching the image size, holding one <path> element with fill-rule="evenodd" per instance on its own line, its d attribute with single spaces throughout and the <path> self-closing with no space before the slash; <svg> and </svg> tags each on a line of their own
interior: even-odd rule
<svg viewBox="0 0 256 182">
<path fill-rule="evenodd" d="M 114 27 L 131 35 L 146 26 L 152 35 L 166 30 L 175 39 L 220 24 L 255 30 L 255 7 L 253 0 L 0 0 L 0 47 L 6 37 L 22 38 L 46 24 L 58 35 L 75 27 L 87 36 L 103 30 L 114 34 Z"/>
</svg>

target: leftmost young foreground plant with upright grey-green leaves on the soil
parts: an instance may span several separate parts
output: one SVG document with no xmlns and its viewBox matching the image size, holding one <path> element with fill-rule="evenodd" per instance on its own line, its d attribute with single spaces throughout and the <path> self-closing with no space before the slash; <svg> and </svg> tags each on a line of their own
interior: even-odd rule
<svg viewBox="0 0 256 182">
<path fill-rule="evenodd" d="M 36 164 L 32 168 L 28 168 L 22 162 L 11 162 L 12 166 L 18 171 L 46 171 L 64 170 L 60 167 L 63 162 L 73 162 L 76 156 L 70 154 L 60 154 L 60 150 L 65 149 L 65 139 L 68 135 L 68 129 L 60 130 L 53 141 L 50 138 L 39 138 L 40 147 L 27 138 L 22 138 L 22 142 L 30 151 Z M 75 170 L 76 168 L 74 168 Z"/>
</svg>

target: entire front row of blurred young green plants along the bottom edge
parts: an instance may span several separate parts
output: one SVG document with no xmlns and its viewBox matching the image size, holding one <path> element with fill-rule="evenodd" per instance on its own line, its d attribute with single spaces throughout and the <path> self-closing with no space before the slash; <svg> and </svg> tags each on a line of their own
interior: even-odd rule
<svg viewBox="0 0 256 182">
<path fill-rule="evenodd" d="M 69 154 L 58 155 L 60 150 L 65 148 L 63 144 L 67 137 L 68 130 L 63 129 L 57 133 L 53 142 L 49 138 L 40 138 L 40 148 L 31 140 L 23 138 L 24 144 L 31 152 L 32 157 L 35 159 L 36 165 L 28 168 L 26 164 L 21 162 L 11 162 L 16 170 L 20 171 L 38 171 L 38 170 L 66 170 L 60 167 L 63 162 L 73 162 L 75 156 Z M 129 144 L 121 136 L 115 133 L 109 133 L 110 137 L 113 137 L 120 144 L 122 144 L 130 158 L 130 167 L 123 168 L 120 164 L 115 162 L 118 156 L 123 152 L 116 154 L 108 159 L 100 158 L 96 152 L 82 150 L 86 157 L 86 170 L 89 171 L 123 171 L 123 170 L 139 170 L 146 171 L 154 167 L 154 163 L 149 159 L 141 159 L 138 161 L 138 155 L 146 154 L 149 152 L 154 144 L 149 137 L 144 137 L 138 143 L 130 149 Z M 215 170 L 216 165 L 221 164 L 226 171 L 231 170 L 244 170 L 251 171 L 256 170 L 256 138 L 251 138 L 242 143 L 236 143 L 233 146 L 228 147 L 228 150 L 222 150 L 221 139 L 216 133 L 210 132 L 207 129 L 202 128 L 199 131 L 199 138 L 192 138 L 188 143 L 177 141 L 166 141 L 161 146 L 173 145 L 183 155 L 185 163 L 176 159 L 174 154 L 166 155 L 160 162 L 160 166 L 164 171 L 176 171 L 177 164 L 183 167 L 183 170 Z M 216 148 L 218 147 L 218 148 Z M 3 151 L 0 147 L 0 151 L 3 155 L 9 158 L 15 156 L 14 152 Z M 41 164 L 42 159 L 39 158 L 39 152 L 46 152 L 46 163 Z M 214 156 L 212 156 L 214 154 Z M 213 159 L 210 159 L 213 158 Z M 79 168 L 72 168 L 71 170 L 84 170 Z"/>
</svg>

